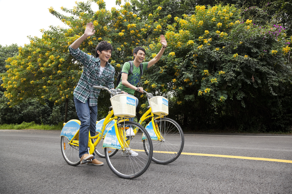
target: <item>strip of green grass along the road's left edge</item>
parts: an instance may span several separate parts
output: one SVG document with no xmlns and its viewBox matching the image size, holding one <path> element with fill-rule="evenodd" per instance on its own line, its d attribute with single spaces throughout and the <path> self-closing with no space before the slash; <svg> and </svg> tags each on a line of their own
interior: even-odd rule
<svg viewBox="0 0 292 194">
<path fill-rule="evenodd" d="M 21 124 L 1 124 L 0 129 L 39 129 L 39 130 L 62 130 L 63 123 L 58 125 L 35 124 L 34 122 L 22 122 Z"/>
</svg>

